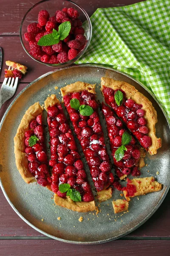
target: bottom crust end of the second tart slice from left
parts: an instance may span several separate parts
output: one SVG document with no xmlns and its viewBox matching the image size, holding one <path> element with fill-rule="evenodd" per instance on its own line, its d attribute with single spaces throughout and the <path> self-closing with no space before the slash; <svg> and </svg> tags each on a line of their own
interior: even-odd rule
<svg viewBox="0 0 170 256">
<path fill-rule="evenodd" d="M 96 209 L 95 202 L 74 202 L 70 197 L 61 198 L 57 194 L 54 194 L 55 204 L 70 209 L 75 212 L 89 212 Z"/>
</svg>

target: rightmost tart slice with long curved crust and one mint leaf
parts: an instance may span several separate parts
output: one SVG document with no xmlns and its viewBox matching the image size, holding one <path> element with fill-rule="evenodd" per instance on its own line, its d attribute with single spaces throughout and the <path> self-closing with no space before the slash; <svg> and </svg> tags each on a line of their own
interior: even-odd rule
<svg viewBox="0 0 170 256">
<path fill-rule="evenodd" d="M 161 138 L 156 137 L 157 113 L 152 103 L 130 84 L 111 78 L 101 78 L 105 102 L 113 108 L 151 155 L 161 147 Z"/>
</svg>

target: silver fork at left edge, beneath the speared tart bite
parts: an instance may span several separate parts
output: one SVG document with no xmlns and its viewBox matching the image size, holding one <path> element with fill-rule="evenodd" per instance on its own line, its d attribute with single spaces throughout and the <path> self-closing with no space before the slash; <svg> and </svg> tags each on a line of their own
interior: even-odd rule
<svg viewBox="0 0 170 256">
<path fill-rule="evenodd" d="M 11 66 L 9 66 L 8 70 L 13 70 Z M 18 84 L 18 77 L 16 78 L 5 78 L 2 84 L 2 87 L 0 89 L 0 109 L 3 105 L 4 102 L 6 102 L 8 99 L 10 99 L 16 89 L 17 89 L 17 84 Z"/>
</svg>

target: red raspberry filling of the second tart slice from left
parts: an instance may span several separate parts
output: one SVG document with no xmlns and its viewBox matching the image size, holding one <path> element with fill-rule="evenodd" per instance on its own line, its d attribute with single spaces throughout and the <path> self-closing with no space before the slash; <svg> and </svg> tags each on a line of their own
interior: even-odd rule
<svg viewBox="0 0 170 256">
<path fill-rule="evenodd" d="M 52 167 L 52 191 L 65 198 L 66 193 L 59 191 L 59 185 L 68 183 L 80 192 L 82 201 L 93 201 L 94 196 L 61 105 L 49 107 L 47 113 L 51 145 L 49 165 Z"/>
</svg>

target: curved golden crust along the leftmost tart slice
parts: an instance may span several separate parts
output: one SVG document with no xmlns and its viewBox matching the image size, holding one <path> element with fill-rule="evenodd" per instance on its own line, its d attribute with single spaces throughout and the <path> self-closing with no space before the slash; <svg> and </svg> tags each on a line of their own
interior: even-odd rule
<svg viewBox="0 0 170 256">
<path fill-rule="evenodd" d="M 29 123 L 36 119 L 42 111 L 43 108 L 40 106 L 39 102 L 36 102 L 34 105 L 29 107 L 23 116 L 17 129 L 17 134 L 14 137 L 15 163 L 20 175 L 26 183 L 37 180 L 28 170 L 28 160 L 25 153 L 25 132 L 29 129 Z"/>
</svg>

